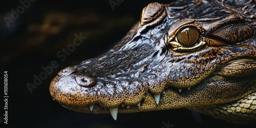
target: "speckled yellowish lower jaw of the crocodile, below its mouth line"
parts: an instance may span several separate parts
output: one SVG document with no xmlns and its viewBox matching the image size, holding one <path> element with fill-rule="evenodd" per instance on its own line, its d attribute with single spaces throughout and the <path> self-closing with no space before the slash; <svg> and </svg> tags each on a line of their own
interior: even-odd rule
<svg viewBox="0 0 256 128">
<path fill-rule="evenodd" d="M 256 89 L 248 91 L 255 92 Z M 193 89 L 192 89 L 193 90 Z M 241 95 L 240 97 L 244 97 L 248 94 Z M 191 95 L 185 95 L 186 92 L 177 92 L 174 90 L 165 90 L 161 94 L 161 98 L 159 103 L 157 104 L 155 98 L 152 94 L 146 94 L 143 100 L 137 105 L 119 105 L 116 108 L 104 108 L 101 104 L 93 104 L 90 106 L 71 106 L 71 105 L 63 105 L 65 108 L 80 112 L 80 113 L 94 113 L 94 114 L 111 114 L 114 120 L 117 119 L 118 113 L 137 113 L 137 112 L 147 112 L 147 111 L 161 111 L 161 110 L 170 110 L 170 109 L 181 109 L 181 108 L 190 108 L 195 106 L 202 105 L 216 105 L 227 102 L 232 102 L 237 99 L 226 99 L 226 100 L 205 100 L 205 97 L 194 97 Z M 209 98 L 209 97 L 208 97 Z M 237 97 L 238 98 L 238 97 Z"/>
</svg>

